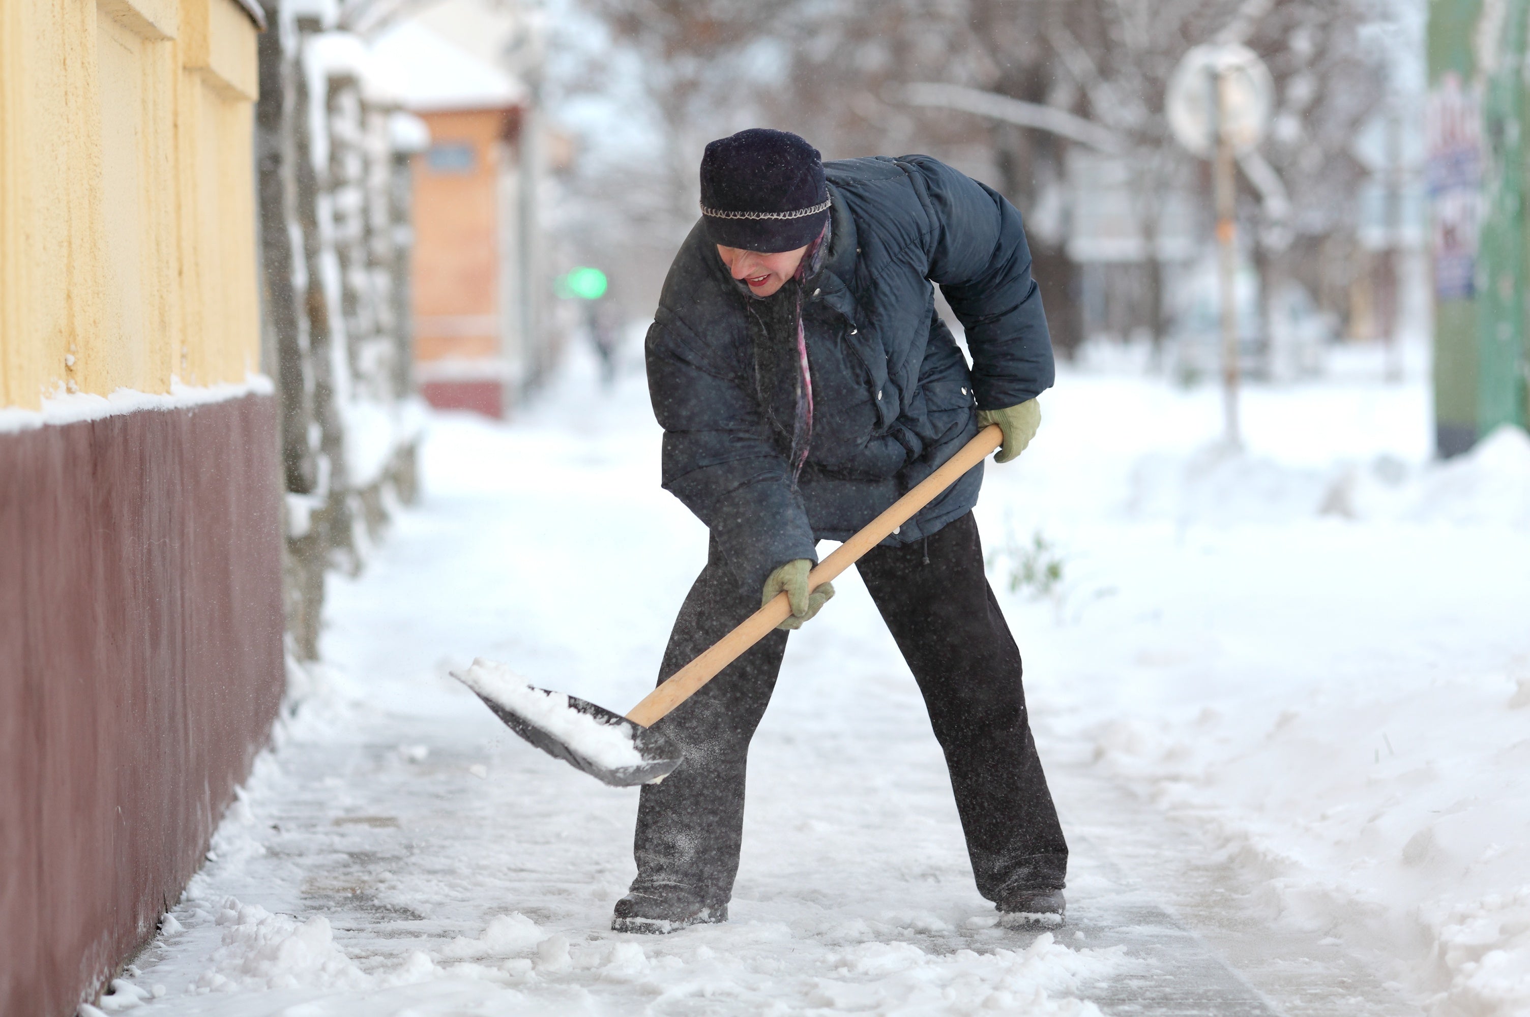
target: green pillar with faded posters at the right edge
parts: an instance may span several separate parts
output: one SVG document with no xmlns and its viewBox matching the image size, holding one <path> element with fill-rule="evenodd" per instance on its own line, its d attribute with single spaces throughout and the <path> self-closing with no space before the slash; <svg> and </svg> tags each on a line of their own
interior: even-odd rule
<svg viewBox="0 0 1530 1017">
<path fill-rule="evenodd" d="M 1427 193 L 1441 456 L 1525 427 L 1530 379 L 1530 2 L 1429 5 Z"/>
</svg>

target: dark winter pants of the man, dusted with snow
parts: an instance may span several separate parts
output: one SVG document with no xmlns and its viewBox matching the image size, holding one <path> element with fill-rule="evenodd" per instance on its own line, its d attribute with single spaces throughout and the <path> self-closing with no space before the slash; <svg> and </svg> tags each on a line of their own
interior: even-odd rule
<svg viewBox="0 0 1530 1017">
<path fill-rule="evenodd" d="M 978 890 L 1001 901 L 1016 890 L 1062 889 L 1068 844 L 1025 716 L 1021 653 L 984 575 L 978 523 L 968 512 L 929 541 L 875 547 L 855 567 L 924 693 Z M 659 681 L 757 609 L 759 590 L 741 589 L 713 546 L 675 621 Z M 785 650 L 786 633 L 773 632 L 655 725 L 685 762 L 664 783 L 643 786 L 635 890 L 693 893 L 713 907 L 731 898 L 750 739 Z"/>
</svg>

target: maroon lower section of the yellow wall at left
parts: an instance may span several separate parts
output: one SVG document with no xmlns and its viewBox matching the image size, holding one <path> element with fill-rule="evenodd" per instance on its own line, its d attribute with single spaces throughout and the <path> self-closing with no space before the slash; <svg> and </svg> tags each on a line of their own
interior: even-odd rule
<svg viewBox="0 0 1530 1017">
<path fill-rule="evenodd" d="M 0 434 L 0 1012 L 153 936 L 283 690 L 275 399 Z"/>
</svg>

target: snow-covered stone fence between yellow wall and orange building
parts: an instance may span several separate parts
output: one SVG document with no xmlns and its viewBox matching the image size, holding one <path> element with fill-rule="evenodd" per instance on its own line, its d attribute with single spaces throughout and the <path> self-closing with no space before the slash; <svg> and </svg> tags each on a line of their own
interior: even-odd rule
<svg viewBox="0 0 1530 1017">
<path fill-rule="evenodd" d="M 415 499 L 410 154 L 424 125 L 378 95 L 353 34 L 266 0 L 256 144 L 266 361 L 278 379 L 286 616 L 318 658 L 324 581 L 356 572 Z"/>
</svg>

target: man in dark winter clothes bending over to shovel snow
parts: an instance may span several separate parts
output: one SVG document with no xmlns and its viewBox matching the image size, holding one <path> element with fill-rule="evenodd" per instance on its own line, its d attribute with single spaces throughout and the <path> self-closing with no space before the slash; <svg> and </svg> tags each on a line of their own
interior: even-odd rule
<svg viewBox="0 0 1530 1017">
<path fill-rule="evenodd" d="M 786 630 L 834 595 L 808 584 L 817 541 L 864 526 L 981 425 L 1004 431 L 998 462 L 1017 456 L 1053 382 L 1021 216 L 961 173 L 927 156 L 825 165 L 796 135 L 745 130 L 707 145 L 701 196 L 647 338 L 664 486 L 711 532 L 659 681 L 762 601 L 786 592 L 793 616 L 655 725 L 685 762 L 643 788 L 618 931 L 727 921 L 748 743 Z M 1010 921 L 1056 922 L 1068 847 L 984 575 L 981 483 L 973 468 L 857 569 L 924 694 L 979 892 Z"/>
</svg>

